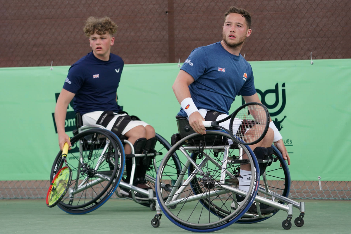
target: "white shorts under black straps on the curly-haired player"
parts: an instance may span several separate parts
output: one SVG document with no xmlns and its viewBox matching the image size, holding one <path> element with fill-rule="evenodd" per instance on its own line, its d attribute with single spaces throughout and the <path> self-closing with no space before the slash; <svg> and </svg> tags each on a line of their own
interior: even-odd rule
<svg viewBox="0 0 351 234">
<path fill-rule="evenodd" d="M 98 119 L 100 118 L 101 114 L 104 113 L 103 111 L 93 111 L 93 112 L 89 112 L 86 113 L 84 115 L 82 115 L 82 120 L 83 120 L 83 125 L 90 125 L 90 124 L 96 124 L 96 122 L 98 121 Z M 112 129 L 114 122 L 117 120 L 117 118 L 119 116 L 124 116 L 126 114 L 117 114 L 117 113 L 113 113 L 115 114 L 115 116 L 113 117 L 113 119 L 108 123 L 107 125 L 107 130 Z M 129 130 L 131 130 L 132 128 L 135 128 L 137 126 L 147 126 L 149 125 L 148 123 L 141 121 L 141 120 L 132 120 L 130 121 L 127 126 L 123 129 L 122 131 L 122 135 L 126 134 Z"/>
</svg>

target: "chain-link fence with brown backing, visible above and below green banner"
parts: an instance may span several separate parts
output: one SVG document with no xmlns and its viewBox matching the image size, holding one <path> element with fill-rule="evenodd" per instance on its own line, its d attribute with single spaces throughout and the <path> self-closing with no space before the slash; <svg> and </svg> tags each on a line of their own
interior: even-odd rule
<svg viewBox="0 0 351 234">
<path fill-rule="evenodd" d="M 72 65 L 89 53 L 89 16 L 118 24 L 112 53 L 126 64 L 184 62 L 221 40 L 229 0 L 0 0 L 0 67 Z M 351 58 L 351 1 L 236 1 L 252 16 L 248 61 Z M 0 199 L 45 198 L 49 181 L 0 181 Z M 351 199 L 349 181 L 292 181 L 290 197 Z"/>
</svg>

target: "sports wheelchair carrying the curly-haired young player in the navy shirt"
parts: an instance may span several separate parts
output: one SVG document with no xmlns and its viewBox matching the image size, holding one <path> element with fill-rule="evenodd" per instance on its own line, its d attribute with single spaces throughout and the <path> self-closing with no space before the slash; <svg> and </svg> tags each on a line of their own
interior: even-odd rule
<svg viewBox="0 0 351 234">
<path fill-rule="evenodd" d="M 156 134 L 148 141 L 141 140 L 134 145 L 124 136 L 108 131 L 101 125 L 82 126 L 82 118 L 76 114 L 77 130 L 73 131 L 72 147 L 67 162 L 72 169 L 72 181 L 64 198 L 57 204 L 69 214 L 85 214 L 103 205 L 113 194 L 119 198 L 134 200 L 141 205 L 156 208 L 155 178 L 160 161 L 171 148 L 162 136 Z M 125 155 L 124 145 L 131 146 L 132 153 Z M 53 163 L 50 181 L 65 166 L 60 151 Z M 173 167 L 181 170 L 177 154 L 171 155 Z M 131 161 L 130 178 L 127 181 L 126 159 Z M 135 169 L 139 163 L 147 163 L 145 179 L 153 189 L 142 189 L 133 185 Z M 169 162 L 171 163 L 171 162 Z M 124 190 L 124 193 L 122 193 Z M 167 193 L 167 186 L 163 187 Z M 130 191 L 126 194 L 125 191 Z M 135 193 L 143 195 L 135 196 Z"/>
</svg>

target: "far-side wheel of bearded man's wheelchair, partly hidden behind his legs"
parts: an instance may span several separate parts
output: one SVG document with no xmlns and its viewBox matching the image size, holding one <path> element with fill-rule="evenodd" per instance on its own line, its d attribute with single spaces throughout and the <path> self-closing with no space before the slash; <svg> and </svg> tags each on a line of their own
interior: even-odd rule
<svg viewBox="0 0 351 234">
<path fill-rule="evenodd" d="M 280 151 L 274 145 L 272 145 L 272 147 L 274 151 L 274 161 L 271 166 L 266 168 L 264 174 L 265 178 L 264 176 L 261 176 L 258 195 L 264 198 L 272 199 L 272 195 L 267 194 L 267 192 L 263 193 L 264 191 L 269 190 L 287 198 L 289 196 L 291 186 L 289 167 Z M 280 164 L 282 164 L 282 167 L 279 166 Z M 284 204 L 282 201 L 275 201 L 280 204 Z M 278 211 L 274 212 L 273 215 L 277 214 Z M 269 219 L 272 216 L 259 218 L 258 216 L 245 217 L 244 215 L 240 220 L 237 221 L 237 223 L 256 223 Z"/>
</svg>

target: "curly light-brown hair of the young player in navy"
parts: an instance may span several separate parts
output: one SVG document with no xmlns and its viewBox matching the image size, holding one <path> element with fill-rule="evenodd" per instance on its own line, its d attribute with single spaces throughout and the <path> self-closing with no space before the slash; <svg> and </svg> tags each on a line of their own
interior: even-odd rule
<svg viewBox="0 0 351 234">
<path fill-rule="evenodd" d="M 87 37 L 90 37 L 95 32 L 99 35 L 104 35 L 105 33 L 113 35 L 117 31 L 117 24 L 108 17 L 98 19 L 91 16 L 87 19 L 83 31 Z"/>
</svg>

